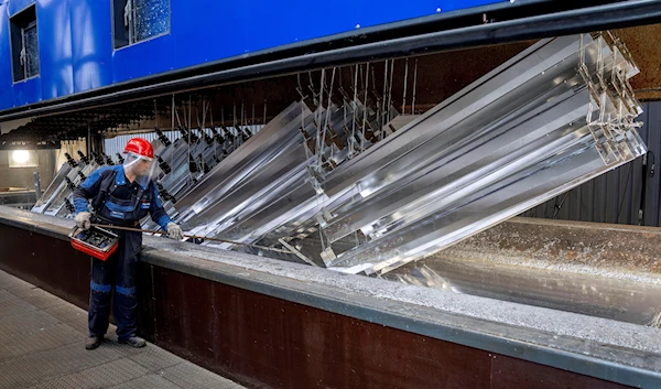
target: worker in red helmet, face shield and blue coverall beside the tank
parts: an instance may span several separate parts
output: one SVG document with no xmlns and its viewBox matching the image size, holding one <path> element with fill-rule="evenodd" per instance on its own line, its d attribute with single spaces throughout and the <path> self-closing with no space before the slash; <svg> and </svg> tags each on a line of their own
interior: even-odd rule
<svg viewBox="0 0 661 389">
<path fill-rule="evenodd" d="M 147 217 L 158 223 L 172 239 L 182 240 L 178 225 L 167 216 L 152 181 L 154 150 L 141 138 L 129 140 L 121 165 L 102 166 L 74 191 L 76 225 L 87 230 L 93 223 L 118 227 L 139 227 Z M 91 199 L 91 212 L 88 201 Z M 119 236 L 117 251 L 106 261 L 91 259 L 89 296 L 89 337 L 85 348 L 97 348 L 108 331 L 110 296 L 115 289 L 113 316 L 119 343 L 144 347 L 136 322 L 136 262 L 142 249 L 142 233 L 111 229 Z"/>
</svg>

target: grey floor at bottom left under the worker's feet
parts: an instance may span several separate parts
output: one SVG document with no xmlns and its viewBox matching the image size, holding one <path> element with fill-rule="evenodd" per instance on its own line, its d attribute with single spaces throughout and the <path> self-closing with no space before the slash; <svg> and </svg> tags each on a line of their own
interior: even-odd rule
<svg viewBox="0 0 661 389">
<path fill-rule="evenodd" d="M 85 349 L 87 312 L 0 271 L 0 388 L 226 388 L 241 386 L 160 347 L 117 343 L 115 327 Z"/>
</svg>

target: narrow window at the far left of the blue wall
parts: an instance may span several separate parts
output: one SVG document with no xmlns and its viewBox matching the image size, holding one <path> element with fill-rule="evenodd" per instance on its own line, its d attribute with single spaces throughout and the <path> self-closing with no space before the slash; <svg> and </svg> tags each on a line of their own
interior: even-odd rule
<svg viewBox="0 0 661 389">
<path fill-rule="evenodd" d="M 9 22 L 14 83 L 39 76 L 39 44 L 36 42 L 36 9 L 34 4 L 11 17 Z"/>
</svg>

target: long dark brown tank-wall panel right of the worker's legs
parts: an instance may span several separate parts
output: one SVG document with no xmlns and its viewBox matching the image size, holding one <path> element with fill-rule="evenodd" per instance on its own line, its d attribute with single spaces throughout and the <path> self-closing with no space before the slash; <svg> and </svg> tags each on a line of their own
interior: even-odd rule
<svg viewBox="0 0 661 389">
<path fill-rule="evenodd" d="M 166 269 L 154 268 L 154 281 L 159 344 L 232 377 L 272 388 L 489 385 L 483 350 Z"/>
</svg>

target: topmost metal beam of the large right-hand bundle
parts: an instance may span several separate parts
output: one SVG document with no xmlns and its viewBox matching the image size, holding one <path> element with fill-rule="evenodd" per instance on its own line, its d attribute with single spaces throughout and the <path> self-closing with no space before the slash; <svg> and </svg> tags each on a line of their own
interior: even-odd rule
<svg viewBox="0 0 661 389">
<path fill-rule="evenodd" d="M 548 48 L 551 55 L 543 57 L 541 61 L 531 60 L 531 63 L 524 62 L 525 58 L 533 56 L 537 50 Z M 430 111 L 425 112 L 418 120 L 411 122 L 398 131 L 387 142 L 381 142 L 369 153 L 362 154 L 350 163 L 347 163 L 334 171 L 325 181 L 324 186 L 326 192 L 333 196 L 336 193 L 347 190 L 351 186 L 357 186 L 357 183 L 362 180 L 369 180 L 372 174 L 378 174 L 379 170 L 392 168 L 398 170 L 409 165 L 411 161 L 402 160 L 415 158 L 418 153 L 410 151 L 425 144 L 431 139 L 438 136 L 438 132 L 445 133 L 452 126 L 460 122 L 468 116 L 487 107 L 491 102 L 501 104 L 498 111 L 507 112 L 507 108 L 517 107 L 516 102 L 527 101 L 530 97 L 527 93 L 543 94 L 545 87 L 553 86 L 553 76 L 551 74 L 541 75 L 541 73 L 562 60 L 573 56 L 575 61 L 565 61 L 562 63 L 564 69 L 573 72 L 578 58 L 578 42 L 575 36 L 566 36 L 549 41 L 540 41 L 523 53 L 506 62 L 498 68 L 476 80 L 470 86 L 462 89 L 449 99 L 441 102 Z M 534 64 L 534 66 L 530 66 Z M 489 85 L 483 85 L 491 78 L 500 76 Z M 525 83 L 535 78 L 541 88 L 535 89 L 529 87 L 527 90 L 519 90 L 521 96 L 517 96 L 518 101 L 509 102 L 500 99 L 505 94 L 512 91 L 520 86 L 520 83 Z M 481 88 L 480 88 L 481 86 Z M 542 89 L 543 88 L 543 89 Z M 456 105 L 455 105 L 456 104 Z M 509 104 L 509 107 L 508 107 Z M 487 119 L 483 119 L 488 121 Z M 413 130 L 411 130 L 413 129 Z M 446 136 L 447 137 L 447 136 Z M 393 163 L 398 163 L 394 164 Z M 410 168 L 408 171 L 414 169 Z M 375 171 L 376 170 L 376 171 Z M 395 177 L 389 179 L 388 182 L 395 181 L 398 177 L 405 175 L 408 171 L 402 172 Z M 386 173 L 383 173 L 386 174 Z M 378 179 L 375 179 L 377 181 Z"/>
</svg>

